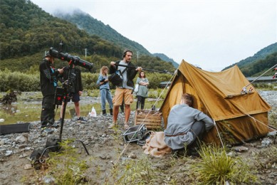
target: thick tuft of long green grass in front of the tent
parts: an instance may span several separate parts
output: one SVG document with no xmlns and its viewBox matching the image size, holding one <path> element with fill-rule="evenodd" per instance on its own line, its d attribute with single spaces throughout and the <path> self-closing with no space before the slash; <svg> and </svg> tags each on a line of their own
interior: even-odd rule
<svg viewBox="0 0 277 185">
<path fill-rule="evenodd" d="M 201 162 L 192 164 L 195 181 L 201 184 L 251 184 L 258 182 L 250 172 L 250 166 L 239 157 L 229 157 L 226 149 L 213 145 L 202 146 Z"/>
</svg>

